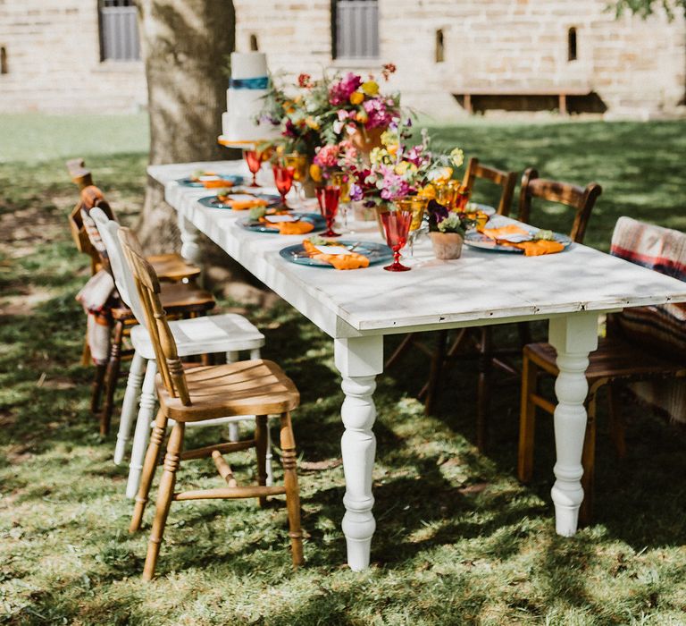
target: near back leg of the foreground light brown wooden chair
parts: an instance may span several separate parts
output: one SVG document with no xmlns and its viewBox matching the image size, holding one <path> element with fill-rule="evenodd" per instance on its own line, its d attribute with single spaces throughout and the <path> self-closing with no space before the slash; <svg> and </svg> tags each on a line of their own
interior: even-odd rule
<svg viewBox="0 0 686 626">
<path fill-rule="evenodd" d="M 180 466 L 181 448 L 183 447 L 183 433 L 186 425 L 177 422 L 171 428 L 171 435 L 167 443 L 167 453 L 164 455 L 163 473 L 160 478 L 160 488 L 157 493 L 157 504 L 155 506 L 155 520 L 153 529 L 150 532 L 150 540 L 147 544 L 146 564 L 143 567 L 143 579 L 152 580 L 155 576 L 155 566 L 157 557 L 160 554 L 160 544 L 164 535 L 164 527 L 169 515 L 171 498 L 174 495 L 174 485 L 176 484 L 176 472 Z"/>
</svg>

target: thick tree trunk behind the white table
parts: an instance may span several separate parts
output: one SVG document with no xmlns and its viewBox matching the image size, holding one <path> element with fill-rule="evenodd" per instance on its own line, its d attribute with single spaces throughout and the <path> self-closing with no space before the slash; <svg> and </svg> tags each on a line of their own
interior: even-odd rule
<svg viewBox="0 0 686 626">
<path fill-rule="evenodd" d="M 150 163 L 213 161 L 230 153 L 217 143 L 226 108 L 224 68 L 233 50 L 230 0 L 138 0 L 146 63 Z M 150 252 L 179 249 L 179 232 L 163 190 L 148 181 L 138 235 Z"/>
</svg>

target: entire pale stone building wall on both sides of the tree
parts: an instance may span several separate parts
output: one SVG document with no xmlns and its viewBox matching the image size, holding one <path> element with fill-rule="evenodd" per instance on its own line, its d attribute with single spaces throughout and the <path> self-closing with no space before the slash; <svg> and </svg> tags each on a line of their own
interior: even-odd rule
<svg viewBox="0 0 686 626">
<path fill-rule="evenodd" d="M 0 111 L 136 110 L 146 104 L 140 62 L 100 62 L 96 0 L 0 0 Z M 331 61 L 330 0 L 234 0 L 237 49 L 251 36 L 272 72 L 378 71 L 439 117 L 464 114 L 453 94 L 583 88 L 610 115 L 672 114 L 686 86 L 686 25 L 658 14 L 615 20 L 607 0 L 379 0 L 380 59 Z M 568 30 L 578 58 L 568 61 Z M 436 34 L 444 61 L 436 61 Z M 683 107 L 682 107 L 683 108 Z"/>
</svg>

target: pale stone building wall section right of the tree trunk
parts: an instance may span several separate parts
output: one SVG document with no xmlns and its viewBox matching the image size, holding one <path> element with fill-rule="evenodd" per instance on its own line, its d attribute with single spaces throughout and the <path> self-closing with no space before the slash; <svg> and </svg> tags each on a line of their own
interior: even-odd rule
<svg viewBox="0 0 686 626">
<path fill-rule="evenodd" d="M 237 47 L 255 35 L 273 72 L 316 74 L 331 64 L 328 0 L 235 0 Z M 407 104 L 441 117 L 463 113 L 451 94 L 501 89 L 588 89 L 611 115 L 672 114 L 686 87 L 682 16 L 615 20 L 607 0 L 379 0 L 380 62 L 333 62 L 366 71 L 397 65 L 393 86 Z M 568 60 L 576 30 L 577 59 Z M 444 58 L 436 62 L 441 30 Z"/>
</svg>

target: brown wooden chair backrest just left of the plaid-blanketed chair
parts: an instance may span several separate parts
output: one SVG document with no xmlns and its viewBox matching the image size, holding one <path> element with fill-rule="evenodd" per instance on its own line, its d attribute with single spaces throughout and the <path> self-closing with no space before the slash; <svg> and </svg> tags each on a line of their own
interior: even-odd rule
<svg viewBox="0 0 686 626">
<path fill-rule="evenodd" d="M 539 178 L 538 171 L 530 167 L 522 176 L 517 219 L 526 224 L 531 223 L 531 199 L 534 198 L 571 207 L 574 210 L 574 219 L 569 236 L 572 241 L 583 243 L 590 213 L 602 192 L 603 189 L 597 182 L 580 187 L 570 182 L 551 181 Z"/>
</svg>

